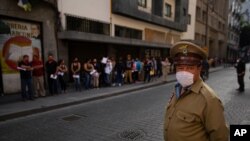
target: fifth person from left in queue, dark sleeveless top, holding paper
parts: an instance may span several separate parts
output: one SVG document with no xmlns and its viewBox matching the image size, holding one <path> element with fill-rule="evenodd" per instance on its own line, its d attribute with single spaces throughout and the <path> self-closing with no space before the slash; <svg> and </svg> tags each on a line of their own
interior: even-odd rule
<svg viewBox="0 0 250 141">
<path fill-rule="evenodd" d="M 73 62 L 71 63 L 71 72 L 72 72 L 72 76 L 74 79 L 74 83 L 75 83 L 75 89 L 76 91 L 81 91 L 81 82 L 80 82 L 80 71 L 81 71 L 81 63 L 79 62 L 78 58 L 75 57 Z"/>
</svg>

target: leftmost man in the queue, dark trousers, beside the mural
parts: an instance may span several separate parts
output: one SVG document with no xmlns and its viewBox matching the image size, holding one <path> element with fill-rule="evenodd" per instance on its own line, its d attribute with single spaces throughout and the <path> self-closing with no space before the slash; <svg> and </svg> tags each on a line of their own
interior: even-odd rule
<svg viewBox="0 0 250 141">
<path fill-rule="evenodd" d="M 26 99 L 34 100 L 33 88 L 32 88 L 32 64 L 29 62 L 29 56 L 24 55 L 23 60 L 18 63 L 18 69 L 21 76 L 21 90 L 22 100 Z M 27 92 L 28 89 L 28 92 Z"/>
</svg>

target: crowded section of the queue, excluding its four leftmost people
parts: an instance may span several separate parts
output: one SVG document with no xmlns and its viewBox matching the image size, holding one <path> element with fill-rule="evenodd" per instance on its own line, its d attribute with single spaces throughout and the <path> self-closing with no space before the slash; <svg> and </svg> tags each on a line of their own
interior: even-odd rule
<svg viewBox="0 0 250 141">
<path fill-rule="evenodd" d="M 81 91 L 81 87 L 88 90 L 92 88 L 122 86 L 143 81 L 150 82 L 151 78 L 160 78 L 164 74 L 164 81 L 170 72 L 171 63 L 167 60 L 154 61 L 154 58 L 147 58 L 141 61 L 133 59 L 127 55 L 126 59 L 103 57 L 97 61 L 96 58 L 88 59 L 86 62 L 78 61 L 76 57 L 71 63 L 72 77 L 76 91 Z M 167 69 L 165 66 L 167 65 Z"/>
</svg>

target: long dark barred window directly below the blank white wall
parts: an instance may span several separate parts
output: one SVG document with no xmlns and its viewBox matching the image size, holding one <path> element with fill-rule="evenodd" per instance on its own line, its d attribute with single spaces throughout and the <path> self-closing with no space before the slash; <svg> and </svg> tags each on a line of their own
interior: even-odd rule
<svg viewBox="0 0 250 141">
<path fill-rule="evenodd" d="M 78 18 L 73 16 L 66 16 L 67 30 L 96 33 L 96 34 L 110 34 L 110 24 L 99 21 L 90 20 L 87 18 Z"/>
</svg>

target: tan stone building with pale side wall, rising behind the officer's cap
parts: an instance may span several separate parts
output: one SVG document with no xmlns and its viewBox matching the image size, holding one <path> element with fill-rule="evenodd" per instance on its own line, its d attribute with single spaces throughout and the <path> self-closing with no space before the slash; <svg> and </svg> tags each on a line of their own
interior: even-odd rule
<svg viewBox="0 0 250 141">
<path fill-rule="evenodd" d="M 208 56 L 225 58 L 227 47 L 228 0 L 192 0 L 189 2 L 189 25 L 183 40 L 194 40 Z"/>
</svg>

